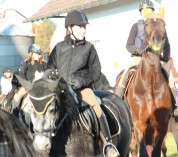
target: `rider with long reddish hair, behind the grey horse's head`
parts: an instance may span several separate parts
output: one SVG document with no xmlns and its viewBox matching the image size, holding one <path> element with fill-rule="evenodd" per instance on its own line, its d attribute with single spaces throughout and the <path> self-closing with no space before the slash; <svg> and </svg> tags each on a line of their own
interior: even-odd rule
<svg viewBox="0 0 178 157">
<path fill-rule="evenodd" d="M 43 59 L 42 49 L 37 44 L 32 44 L 28 48 L 28 55 L 22 62 L 19 68 L 18 75 L 30 82 L 35 79 L 41 78 L 46 69 L 47 63 Z M 12 108 L 20 107 L 21 98 L 27 94 L 27 90 L 24 87 L 20 87 L 18 92 L 14 95 L 12 101 Z"/>
</svg>

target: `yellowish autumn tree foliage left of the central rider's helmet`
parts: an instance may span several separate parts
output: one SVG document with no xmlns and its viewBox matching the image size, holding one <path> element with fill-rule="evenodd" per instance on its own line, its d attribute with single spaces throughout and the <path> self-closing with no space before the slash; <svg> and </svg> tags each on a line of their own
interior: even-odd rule
<svg viewBox="0 0 178 157">
<path fill-rule="evenodd" d="M 50 41 L 55 29 L 56 24 L 50 19 L 44 19 L 34 24 L 35 43 L 41 46 L 43 52 L 50 51 Z"/>
</svg>

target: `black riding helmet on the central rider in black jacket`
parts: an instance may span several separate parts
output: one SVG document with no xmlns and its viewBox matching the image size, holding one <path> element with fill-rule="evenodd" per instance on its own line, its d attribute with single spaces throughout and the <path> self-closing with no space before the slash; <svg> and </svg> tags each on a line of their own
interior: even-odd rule
<svg viewBox="0 0 178 157">
<path fill-rule="evenodd" d="M 80 10 L 73 10 L 69 12 L 65 19 L 65 28 L 71 25 L 86 25 L 88 19 L 85 13 Z"/>
</svg>

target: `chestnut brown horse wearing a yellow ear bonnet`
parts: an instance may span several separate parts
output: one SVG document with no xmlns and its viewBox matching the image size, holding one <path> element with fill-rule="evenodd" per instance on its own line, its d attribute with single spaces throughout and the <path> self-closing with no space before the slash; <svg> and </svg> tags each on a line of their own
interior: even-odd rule
<svg viewBox="0 0 178 157">
<path fill-rule="evenodd" d="M 146 48 L 125 94 L 132 115 L 132 139 L 136 140 L 141 157 L 161 156 L 171 116 L 170 89 L 160 65 L 166 32 L 163 9 L 148 13 L 144 7 Z"/>
</svg>

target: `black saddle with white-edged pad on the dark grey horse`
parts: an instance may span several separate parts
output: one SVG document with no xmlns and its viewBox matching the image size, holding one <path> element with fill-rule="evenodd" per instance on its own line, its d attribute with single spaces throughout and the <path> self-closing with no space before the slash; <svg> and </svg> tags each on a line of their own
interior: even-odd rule
<svg viewBox="0 0 178 157">
<path fill-rule="evenodd" d="M 107 120 L 111 119 L 113 123 L 111 125 L 116 126 L 115 130 L 113 130 L 112 128 L 111 137 L 116 136 L 118 132 L 120 132 L 120 125 L 118 124 L 119 123 L 118 119 L 116 119 L 116 116 L 112 112 L 113 109 L 109 105 L 105 104 L 103 100 L 105 97 L 109 96 L 109 92 L 95 90 L 94 94 L 97 98 L 98 103 L 101 105 L 101 108 L 105 113 Z M 79 115 L 80 123 L 86 128 L 86 130 L 89 133 L 99 137 L 100 136 L 99 121 L 97 119 L 97 116 L 93 108 L 90 105 L 82 102 L 79 111 L 80 111 L 80 115 Z M 108 124 L 109 124 L 109 128 L 111 128 L 110 123 Z"/>
</svg>

